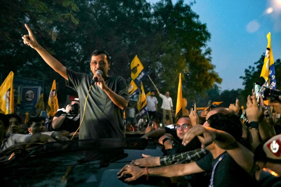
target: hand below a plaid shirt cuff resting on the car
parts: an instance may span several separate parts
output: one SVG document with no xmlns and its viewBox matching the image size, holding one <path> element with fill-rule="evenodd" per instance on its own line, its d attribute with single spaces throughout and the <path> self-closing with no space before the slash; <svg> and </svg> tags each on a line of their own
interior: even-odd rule
<svg viewBox="0 0 281 187">
<path fill-rule="evenodd" d="M 155 167 L 160 166 L 160 157 L 153 157 L 150 155 L 142 154 L 143 158 L 133 160 L 130 164 L 140 167 Z"/>
</svg>

